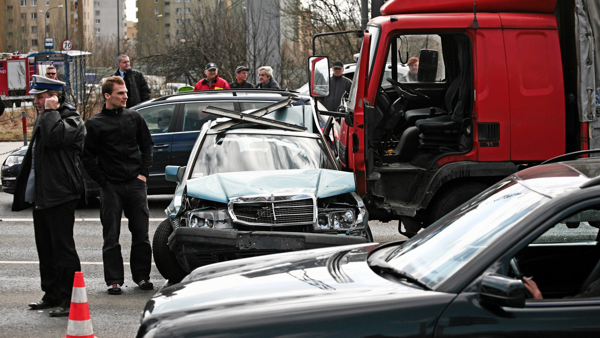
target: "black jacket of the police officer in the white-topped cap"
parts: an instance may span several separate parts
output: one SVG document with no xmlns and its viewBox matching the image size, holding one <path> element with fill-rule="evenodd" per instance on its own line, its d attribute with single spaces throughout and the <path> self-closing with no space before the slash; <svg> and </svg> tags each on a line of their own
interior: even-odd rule
<svg viewBox="0 0 600 338">
<path fill-rule="evenodd" d="M 35 149 L 35 208 L 50 208 L 80 198 L 83 192 L 80 156 L 85 134 L 81 116 L 68 103 L 58 110 L 46 109 L 37 116 L 17 177 L 13 211 L 31 207 L 25 202 L 25 188 L 31 171 L 32 149 Z"/>
</svg>

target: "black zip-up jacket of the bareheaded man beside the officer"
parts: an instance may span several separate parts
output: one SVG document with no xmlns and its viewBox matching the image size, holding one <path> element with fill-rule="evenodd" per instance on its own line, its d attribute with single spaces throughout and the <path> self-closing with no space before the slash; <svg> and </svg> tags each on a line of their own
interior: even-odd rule
<svg viewBox="0 0 600 338">
<path fill-rule="evenodd" d="M 142 115 L 127 108 L 106 109 L 85 123 L 83 167 L 100 186 L 149 176 L 154 140 Z"/>
</svg>

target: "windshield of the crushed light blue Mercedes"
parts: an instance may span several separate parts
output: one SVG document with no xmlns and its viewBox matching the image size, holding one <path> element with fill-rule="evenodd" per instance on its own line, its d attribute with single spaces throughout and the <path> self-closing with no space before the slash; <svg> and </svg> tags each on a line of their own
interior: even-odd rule
<svg viewBox="0 0 600 338">
<path fill-rule="evenodd" d="M 336 169 L 317 136 L 290 134 L 207 134 L 190 178 L 223 172 Z"/>
</svg>

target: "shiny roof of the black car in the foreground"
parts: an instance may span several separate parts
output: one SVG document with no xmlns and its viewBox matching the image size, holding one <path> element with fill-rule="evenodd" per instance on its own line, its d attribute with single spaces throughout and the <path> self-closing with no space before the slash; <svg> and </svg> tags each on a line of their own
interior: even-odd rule
<svg viewBox="0 0 600 338">
<path fill-rule="evenodd" d="M 581 158 L 530 167 L 513 174 L 514 180 L 542 195 L 563 193 L 600 185 L 600 158 Z"/>
</svg>

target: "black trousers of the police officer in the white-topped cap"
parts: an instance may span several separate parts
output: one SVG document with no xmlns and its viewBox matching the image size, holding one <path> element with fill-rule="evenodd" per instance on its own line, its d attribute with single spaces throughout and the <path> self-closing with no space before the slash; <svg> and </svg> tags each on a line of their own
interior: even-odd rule
<svg viewBox="0 0 600 338">
<path fill-rule="evenodd" d="M 77 199 L 33 211 L 35 246 L 44 291 L 41 299 L 62 307 L 71 305 L 73 278 L 76 271 L 81 271 L 73 240 L 76 205 Z"/>
</svg>

